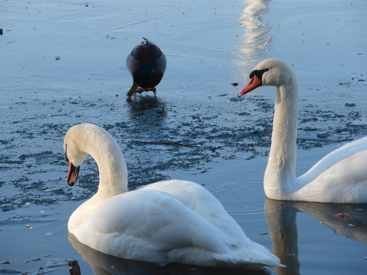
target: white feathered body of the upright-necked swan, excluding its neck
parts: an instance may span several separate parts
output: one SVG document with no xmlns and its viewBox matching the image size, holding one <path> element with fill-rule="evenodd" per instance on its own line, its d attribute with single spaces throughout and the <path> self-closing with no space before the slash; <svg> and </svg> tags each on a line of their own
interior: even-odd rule
<svg viewBox="0 0 367 275">
<path fill-rule="evenodd" d="M 334 150 L 294 184 L 292 200 L 367 202 L 367 137 Z"/>
</svg>

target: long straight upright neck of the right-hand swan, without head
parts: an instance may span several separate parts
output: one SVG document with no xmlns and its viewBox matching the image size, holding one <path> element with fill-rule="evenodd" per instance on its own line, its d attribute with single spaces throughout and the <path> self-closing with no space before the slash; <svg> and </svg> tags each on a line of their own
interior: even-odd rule
<svg viewBox="0 0 367 275">
<path fill-rule="evenodd" d="M 295 182 L 298 122 L 298 82 L 295 74 L 286 85 L 276 87 L 272 145 L 264 176 L 269 198 L 286 199 Z"/>
</svg>

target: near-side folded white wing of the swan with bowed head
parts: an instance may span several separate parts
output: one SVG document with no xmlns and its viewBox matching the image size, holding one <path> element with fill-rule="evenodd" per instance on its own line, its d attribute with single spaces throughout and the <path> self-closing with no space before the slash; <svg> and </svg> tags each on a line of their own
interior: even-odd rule
<svg viewBox="0 0 367 275">
<path fill-rule="evenodd" d="M 76 237 L 106 254 L 143 261 L 165 261 L 160 252 L 188 245 L 218 254 L 232 250 L 229 236 L 156 190 L 107 199 L 80 225 Z"/>
</svg>

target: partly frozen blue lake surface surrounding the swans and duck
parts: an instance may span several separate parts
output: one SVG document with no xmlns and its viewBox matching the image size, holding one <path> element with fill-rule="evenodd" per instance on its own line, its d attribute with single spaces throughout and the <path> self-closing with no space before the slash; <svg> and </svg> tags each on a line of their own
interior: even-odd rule
<svg viewBox="0 0 367 275">
<path fill-rule="evenodd" d="M 0 261 L 11 261 L 0 274 L 68 274 L 64 259 L 76 260 L 84 275 L 366 274 L 367 205 L 266 199 L 275 88 L 237 98 L 260 60 L 293 65 L 297 176 L 340 144 L 366 136 L 364 0 L 6 0 L 0 7 Z M 167 69 L 156 96 L 127 99 L 125 60 L 141 37 L 161 48 Z M 68 218 L 98 184 L 88 157 L 76 185 L 66 185 L 63 136 L 82 122 L 119 142 L 130 189 L 170 178 L 204 184 L 246 235 L 288 268 L 156 267 L 69 242 Z"/>
</svg>

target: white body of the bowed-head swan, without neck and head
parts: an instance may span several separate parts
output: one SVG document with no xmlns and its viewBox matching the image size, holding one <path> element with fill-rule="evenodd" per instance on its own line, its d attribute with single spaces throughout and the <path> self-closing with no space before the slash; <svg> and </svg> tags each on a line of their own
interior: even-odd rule
<svg viewBox="0 0 367 275">
<path fill-rule="evenodd" d="M 75 235 L 94 249 L 133 260 L 282 266 L 246 237 L 214 196 L 190 181 L 162 181 L 109 198 Z"/>
</svg>

